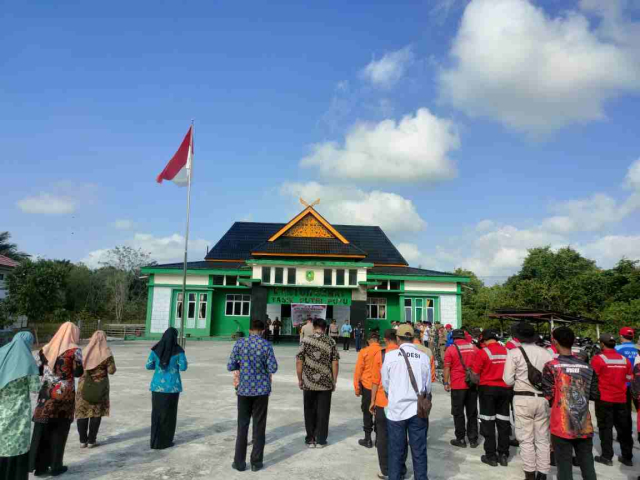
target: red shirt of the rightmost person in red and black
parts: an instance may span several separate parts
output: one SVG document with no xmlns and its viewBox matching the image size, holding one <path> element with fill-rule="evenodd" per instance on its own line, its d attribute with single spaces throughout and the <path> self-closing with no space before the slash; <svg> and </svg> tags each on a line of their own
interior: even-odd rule
<svg viewBox="0 0 640 480">
<path fill-rule="evenodd" d="M 611 403 L 627 402 L 627 382 L 633 378 L 633 368 L 624 355 L 606 348 L 591 360 L 598 376 L 600 400 Z"/>
</svg>

